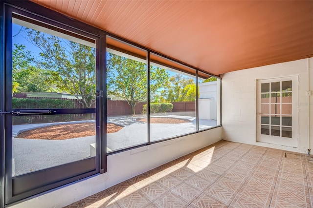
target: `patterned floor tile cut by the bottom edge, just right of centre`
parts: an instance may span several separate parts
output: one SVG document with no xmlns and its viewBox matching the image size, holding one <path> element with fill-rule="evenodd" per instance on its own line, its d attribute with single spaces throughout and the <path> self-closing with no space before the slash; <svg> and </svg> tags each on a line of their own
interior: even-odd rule
<svg viewBox="0 0 313 208">
<path fill-rule="evenodd" d="M 171 191 L 163 194 L 159 199 L 153 203 L 158 208 L 186 208 L 189 206 L 187 202 L 181 200 L 178 195 Z"/>
</svg>

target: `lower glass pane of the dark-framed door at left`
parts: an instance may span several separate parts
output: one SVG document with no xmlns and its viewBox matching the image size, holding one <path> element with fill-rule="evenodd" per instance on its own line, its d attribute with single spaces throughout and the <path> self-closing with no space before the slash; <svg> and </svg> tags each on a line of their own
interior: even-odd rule
<svg viewBox="0 0 313 208">
<path fill-rule="evenodd" d="M 12 175 L 95 156 L 95 114 L 13 116 Z"/>
</svg>

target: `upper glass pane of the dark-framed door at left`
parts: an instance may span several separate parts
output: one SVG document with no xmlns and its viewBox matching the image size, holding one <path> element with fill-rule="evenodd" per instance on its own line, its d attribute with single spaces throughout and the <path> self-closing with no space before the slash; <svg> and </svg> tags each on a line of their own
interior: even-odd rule
<svg viewBox="0 0 313 208">
<path fill-rule="evenodd" d="M 12 26 L 12 108 L 95 108 L 95 40 L 15 18 Z"/>
</svg>

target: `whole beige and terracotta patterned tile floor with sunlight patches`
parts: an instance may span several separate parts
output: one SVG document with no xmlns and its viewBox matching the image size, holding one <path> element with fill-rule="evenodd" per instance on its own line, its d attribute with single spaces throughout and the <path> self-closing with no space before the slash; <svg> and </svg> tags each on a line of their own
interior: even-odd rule
<svg viewBox="0 0 313 208">
<path fill-rule="evenodd" d="M 309 208 L 312 205 L 313 158 L 222 140 L 67 208 Z"/>
</svg>

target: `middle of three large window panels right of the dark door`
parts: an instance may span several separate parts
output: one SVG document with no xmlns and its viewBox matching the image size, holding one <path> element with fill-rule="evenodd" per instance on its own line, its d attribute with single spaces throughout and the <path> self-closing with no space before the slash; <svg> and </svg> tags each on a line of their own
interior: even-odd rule
<svg viewBox="0 0 313 208">
<path fill-rule="evenodd" d="M 154 54 L 151 59 L 151 142 L 196 132 L 196 71 L 182 72 Z"/>
</svg>

